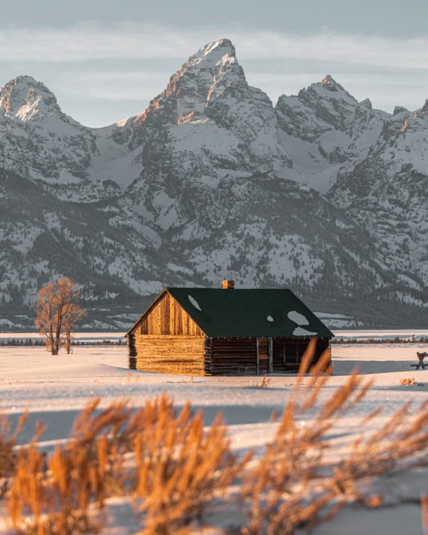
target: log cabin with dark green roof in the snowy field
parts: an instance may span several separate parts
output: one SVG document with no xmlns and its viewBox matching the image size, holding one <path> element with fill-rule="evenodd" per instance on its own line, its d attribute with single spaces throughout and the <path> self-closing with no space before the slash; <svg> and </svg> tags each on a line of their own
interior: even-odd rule
<svg viewBox="0 0 428 535">
<path fill-rule="evenodd" d="M 165 287 L 126 333 L 133 370 L 192 375 L 296 372 L 312 337 L 333 334 L 291 291 Z"/>
</svg>

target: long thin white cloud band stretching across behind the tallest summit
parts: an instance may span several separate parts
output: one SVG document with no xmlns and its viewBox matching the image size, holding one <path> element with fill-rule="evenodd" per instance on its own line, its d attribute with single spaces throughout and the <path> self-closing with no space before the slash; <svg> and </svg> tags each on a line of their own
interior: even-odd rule
<svg viewBox="0 0 428 535">
<path fill-rule="evenodd" d="M 0 50 L 2 61 L 184 60 L 209 41 L 209 36 L 211 40 L 230 37 L 241 60 L 313 59 L 395 68 L 426 68 L 428 64 L 428 39 L 424 37 L 397 39 L 330 31 L 301 35 L 233 26 L 208 31 L 133 23 L 81 24 L 66 29 L 11 27 L 0 30 Z"/>
</svg>

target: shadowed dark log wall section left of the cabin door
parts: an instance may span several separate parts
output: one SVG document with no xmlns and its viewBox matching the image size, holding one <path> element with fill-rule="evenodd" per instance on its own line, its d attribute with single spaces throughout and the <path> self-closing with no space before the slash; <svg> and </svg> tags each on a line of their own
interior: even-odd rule
<svg viewBox="0 0 428 535">
<path fill-rule="evenodd" d="M 255 338 L 208 338 L 204 344 L 205 374 L 256 375 Z"/>
</svg>

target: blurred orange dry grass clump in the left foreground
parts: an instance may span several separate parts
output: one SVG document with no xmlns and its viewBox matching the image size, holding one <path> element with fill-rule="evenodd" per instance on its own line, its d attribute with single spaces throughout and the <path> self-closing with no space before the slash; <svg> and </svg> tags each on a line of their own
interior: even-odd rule
<svg viewBox="0 0 428 535">
<path fill-rule="evenodd" d="M 230 452 L 220 417 L 204 430 L 190 404 L 180 414 L 163 395 L 132 409 L 125 402 L 96 412 L 90 402 L 71 438 L 46 464 L 36 444 L 19 450 L 6 507 L 14 528 L 31 535 L 96 531 L 108 496 L 134 496 L 145 534 L 178 534 L 202 519 L 247 460 Z"/>
</svg>

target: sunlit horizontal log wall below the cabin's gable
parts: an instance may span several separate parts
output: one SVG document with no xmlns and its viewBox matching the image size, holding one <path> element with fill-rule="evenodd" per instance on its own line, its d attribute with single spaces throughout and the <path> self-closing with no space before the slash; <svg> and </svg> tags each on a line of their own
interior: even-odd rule
<svg viewBox="0 0 428 535">
<path fill-rule="evenodd" d="M 135 335 L 134 345 L 136 370 L 204 374 L 203 336 Z"/>
</svg>

